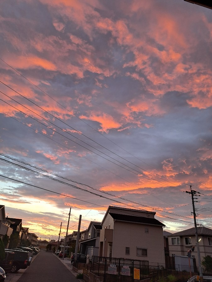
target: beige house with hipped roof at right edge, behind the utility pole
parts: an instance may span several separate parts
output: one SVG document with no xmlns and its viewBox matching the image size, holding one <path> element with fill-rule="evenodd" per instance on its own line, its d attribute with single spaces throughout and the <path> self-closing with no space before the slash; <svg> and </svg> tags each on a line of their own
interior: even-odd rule
<svg viewBox="0 0 212 282">
<path fill-rule="evenodd" d="M 197 227 L 200 259 L 209 255 L 212 256 L 212 229 L 204 226 Z M 187 256 L 188 250 L 195 246 L 192 257 L 196 259 L 196 264 L 199 265 L 195 228 L 189 228 L 174 234 L 168 235 L 169 255 L 170 256 Z"/>
</svg>

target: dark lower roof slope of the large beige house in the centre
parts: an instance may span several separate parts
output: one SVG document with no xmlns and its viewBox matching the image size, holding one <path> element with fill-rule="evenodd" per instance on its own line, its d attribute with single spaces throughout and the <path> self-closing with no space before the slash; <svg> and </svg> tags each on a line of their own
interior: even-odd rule
<svg viewBox="0 0 212 282">
<path fill-rule="evenodd" d="M 165 226 L 163 223 L 161 223 L 160 221 L 158 221 L 155 218 L 130 216 L 130 215 L 125 215 L 125 214 L 110 213 L 110 212 L 109 214 L 111 215 L 113 219 L 118 220 L 118 221 L 127 221 L 127 222 L 134 222 L 134 223 Z"/>
</svg>

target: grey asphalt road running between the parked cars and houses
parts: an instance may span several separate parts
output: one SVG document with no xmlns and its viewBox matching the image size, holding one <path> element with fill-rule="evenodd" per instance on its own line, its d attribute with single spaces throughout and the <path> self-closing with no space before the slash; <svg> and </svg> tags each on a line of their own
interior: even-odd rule
<svg viewBox="0 0 212 282">
<path fill-rule="evenodd" d="M 41 251 L 27 269 L 18 271 L 21 275 L 19 278 L 12 277 L 15 275 L 13 273 L 8 273 L 7 278 L 11 277 L 8 280 L 11 282 L 79 282 L 71 272 L 71 264 L 65 262 L 68 263 L 65 260 L 62 262 L 62 259 L 52 253 Z"/>
</svg>

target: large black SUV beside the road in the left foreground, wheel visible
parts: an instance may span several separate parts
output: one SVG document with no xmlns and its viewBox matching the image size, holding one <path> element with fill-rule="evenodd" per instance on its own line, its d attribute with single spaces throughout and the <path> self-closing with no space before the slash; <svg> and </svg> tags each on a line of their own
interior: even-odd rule
<svg viewBox="0 0 212 282">
<path fill-rule="evenodd" d="M 29 256 L 29 252 L 12 250 L 12 249 L 5 249 L 5 251 L 12 251 L 14 252 L 14 260 L 11 272 L 15 273 L 19 269 L 26 269 L 30 266 L 31 257 Z"/>
</svg>

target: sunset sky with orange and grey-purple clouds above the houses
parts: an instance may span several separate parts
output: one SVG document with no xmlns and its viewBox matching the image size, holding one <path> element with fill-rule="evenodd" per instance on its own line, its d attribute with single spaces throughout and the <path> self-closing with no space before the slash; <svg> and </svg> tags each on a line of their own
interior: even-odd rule
<svg viewBox="0 0 212 282">
<path fill-rule="evenodd" d="M 39 239 L 108 206 L 212 228 L 212 10 L 183 0 L 3 0 L 0 204 Z"/>
</svg>

